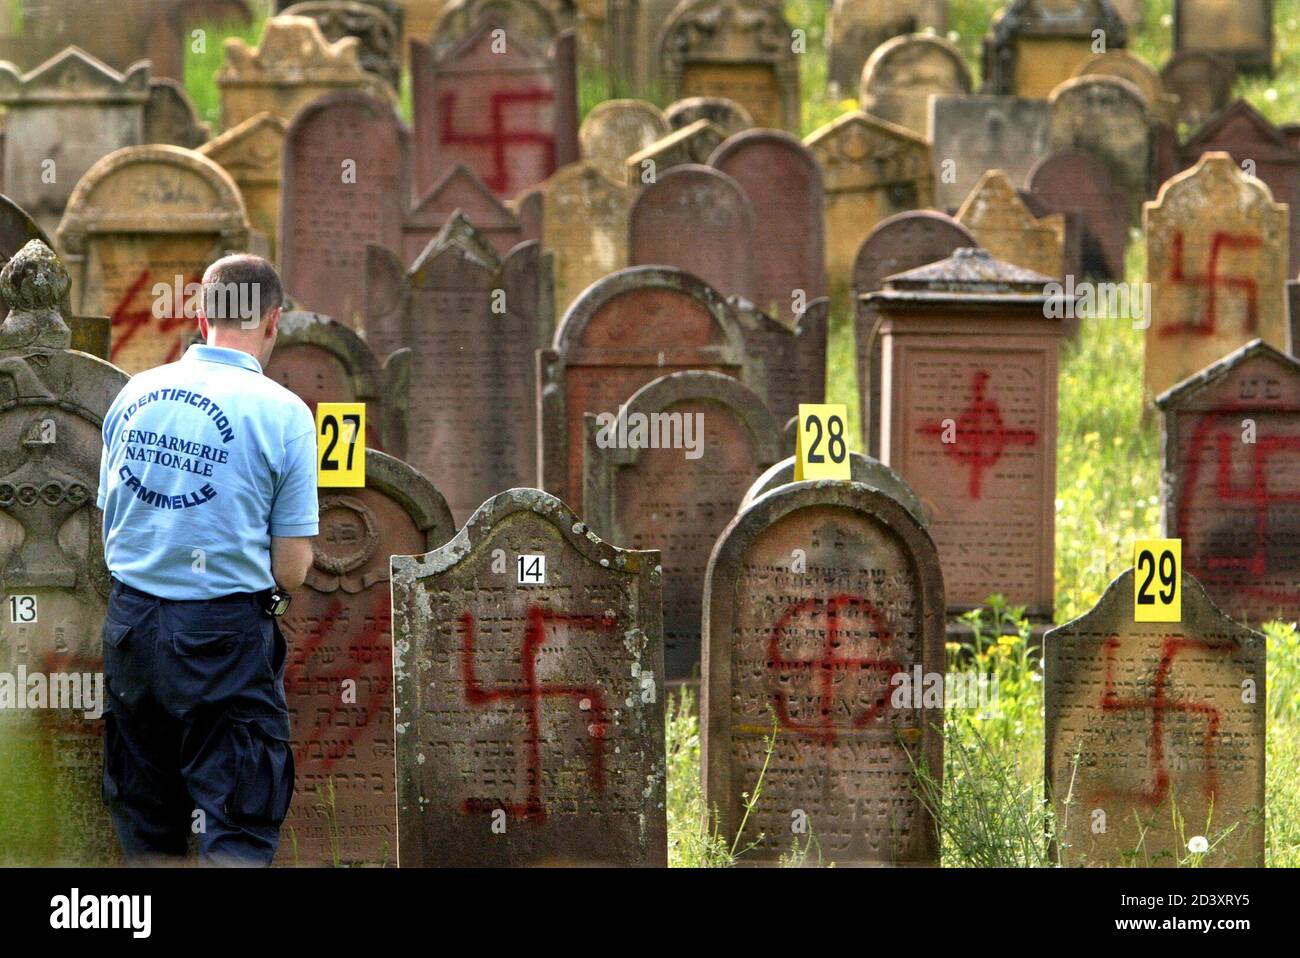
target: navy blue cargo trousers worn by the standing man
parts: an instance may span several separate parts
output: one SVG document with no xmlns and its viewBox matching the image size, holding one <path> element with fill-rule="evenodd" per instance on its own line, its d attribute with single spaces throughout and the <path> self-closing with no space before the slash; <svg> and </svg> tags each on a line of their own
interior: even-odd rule
<svg viewBox="0 0 1300 958">
<path fill-rule="evenodd" d="M 116 582 L 104 623 L 104 803 L 127 861 L 265 866 L 294 793 L 287 645 L 259 597 Z"/>
</svg>

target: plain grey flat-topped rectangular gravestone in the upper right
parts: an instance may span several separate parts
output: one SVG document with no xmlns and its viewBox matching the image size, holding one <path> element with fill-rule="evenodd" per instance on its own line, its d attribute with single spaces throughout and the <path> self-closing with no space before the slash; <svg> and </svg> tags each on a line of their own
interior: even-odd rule
<svg viewBox="0 0 1300 958">
<path fill-rule="evenodd" d="M 1024 182 L 1048 153 L 1050 110 L 1020 96 L 936 96 L 930 113 L 935 203 L 956 209 L 988 170 Z"/>
</svg>

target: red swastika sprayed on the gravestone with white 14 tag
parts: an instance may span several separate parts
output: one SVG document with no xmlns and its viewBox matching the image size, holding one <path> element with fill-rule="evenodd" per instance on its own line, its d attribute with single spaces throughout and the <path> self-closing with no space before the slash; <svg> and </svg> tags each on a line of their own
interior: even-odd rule
<svg viewBox="0 0 1300 958">
<path fill-rule="evenodd" d="M 473 706 L 486 706 L 494 702 L 521 702 L 525 705 L 528 733 L 524 740 L 528 764 L 528 797 L 523 802 L 510 803 L 493 798 L 467 798 L 462 811 L 491 812 L 504 809 L 511 818 L 545 822 L 546 805 L 542 801 L 542 701 L 547 698 L 573 699 L 580 710 L 590 714 L 588 733 L 592 738 L 592 758 L 589 777 L 592 790 L 604 792 L 604 695 L 601 689 L 585 685 L 546 685 L 537 681 L 537 654 L 546 642 L 547 623 L 569 625 L 580 629 L 604 629 L 612 632 L 616 620 L 611 616 L 564 615 L 541 606 L 529 606 L 524 641 L 520 646 L 521 685 L 485 688 L 478 682 L 474 669 L 474 617 L 469 612 L 460 616 L 464 632 L 460 672 L 465 682 L 465 701 Z"/>
</svg>

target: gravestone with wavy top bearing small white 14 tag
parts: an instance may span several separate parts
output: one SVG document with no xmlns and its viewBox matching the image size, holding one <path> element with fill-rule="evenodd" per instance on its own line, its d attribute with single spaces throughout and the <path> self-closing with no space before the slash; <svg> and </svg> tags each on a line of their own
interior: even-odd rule
<svg viewBox="0 0 1300 958">
<path fill-rule="evenodd" d="M 402 867 L 667 864 L 658 567 L 538 489 L 393 558 Z"/>
</svg>

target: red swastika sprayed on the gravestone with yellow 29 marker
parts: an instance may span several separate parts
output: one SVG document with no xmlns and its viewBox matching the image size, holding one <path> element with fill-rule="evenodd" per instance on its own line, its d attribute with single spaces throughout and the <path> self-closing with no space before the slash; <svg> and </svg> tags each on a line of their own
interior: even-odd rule
<svg viewBox="0 0 1300 958">
<path fill-rule="evenodd" d="M 1201 642 L 1192 638 L 1166 636 L 1161 650 L 1160 666 L 1156 667 L 1156 685 L 1150 698 L 1119 698 L 1115 693 L 1115 653 L 1119 649 L 1119 636 L 1112 636 L 1102 646 L 1106 653 L 1106 682 L 1101 690 L 1101 710 L 1121 712 L 1144 710 L 1150 712 L 1150 789 L 1131 796 L 1147 805 L 1160 805 L 1169 796 L 1169 767 L 1165 760 L 1165 715 L 1170 711 L 1195 712 L 1205 716 L 1205 784 L 1202 792 L 1213 799 L 1218 792 L 1218 779 L 1214 771 L 1214 745 L 1218 737 L 1219 711 L 1205 702 L 1182 702 L 1169 698 L 1169 673 L 1174 668 L 1174 658 L 1186 649 L 1199 649 L 1209 653 L 1231 651 L 1231 645 Z M 1098 797 L 1106 797 L 1101 793 Z"/>
</svg>

